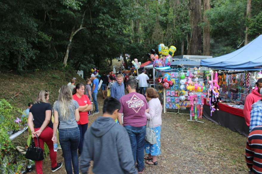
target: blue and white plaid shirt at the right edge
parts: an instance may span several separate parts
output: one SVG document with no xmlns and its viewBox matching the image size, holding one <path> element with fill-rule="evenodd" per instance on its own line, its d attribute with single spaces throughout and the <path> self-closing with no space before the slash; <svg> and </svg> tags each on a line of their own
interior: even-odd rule
<svg viewBox="0 0 262 174">
<path fill-rule="evenodd" d="M 253 104 L 254 105 L 254 104 Z M 262 125 L 262 107 L 252 107 L 250 112 L 250 125 L 249 132 L 252 131 L 253 127 Z"/>
</svg>

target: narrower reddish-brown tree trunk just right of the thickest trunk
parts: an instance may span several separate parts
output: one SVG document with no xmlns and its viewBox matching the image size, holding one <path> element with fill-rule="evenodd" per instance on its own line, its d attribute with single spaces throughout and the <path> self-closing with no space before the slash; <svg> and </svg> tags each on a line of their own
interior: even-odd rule
<svg viewBox="0 0 262 174">
<path fill-rule="evenodd" d="M 209 0 L 203 0 L 204 7 L 204 31 L 203 31 L 203 55 L 210 56 L 210 23 L 205 15 L 206 10 L 210 10 Z"/>
</svg>

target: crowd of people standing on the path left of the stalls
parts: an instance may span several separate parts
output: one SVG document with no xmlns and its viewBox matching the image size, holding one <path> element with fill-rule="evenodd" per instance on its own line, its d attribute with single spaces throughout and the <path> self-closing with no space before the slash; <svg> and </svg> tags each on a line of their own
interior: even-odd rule
<svg viewBox="0 0 262 174">
<path fill-rule="evenodd" d="M 148 80 L 142 76 L 137 79 L 139 83 Z M 94 173 L 143 173 L 144 160 L 149 165 L 157 165 L 162 123 L 162 105 L 157 91 L 147 88 L 139 94 L 138 82 L 132 74 L 104 73 L 100 78 L 104 99 L 102 117 L 88 129 L 91 101 L 95 105 L 93 114 L 99 113 L 99 79 L 92 74 L 85 85 L 76 84 L 76 80 L 73 77 L 59 89 L 53 107 L 49 103 L 49 91 L 41 90 L 35 102 L 29 103 L 26 109 L 35 145 L 36 137 L 40 148 L 44 148 L 44 143 L 48 145 L 52 172 L 63 165 L 57 162 L 57 152 L 54 151 L 57 142 L 63 152 L 67 173 L 79 173 L 79 167 L 82 173 L 87 173 L 91 160 Z M 146 125 L 155 131 L 157 143 L 145 141 Z M 148 156 L 144 157 L 144 151 Z M 35 162 L 38 174 L 43 173 L 42 164 L 43 161 Z"/>
</svg>

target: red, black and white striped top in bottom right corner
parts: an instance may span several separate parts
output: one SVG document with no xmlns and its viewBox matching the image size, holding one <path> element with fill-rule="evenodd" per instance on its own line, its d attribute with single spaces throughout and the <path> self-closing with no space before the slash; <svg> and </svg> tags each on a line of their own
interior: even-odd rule
<svg viewBox="0 0 262 174">
<path fill-rule="evenodd" d="M 255 126 L 249 133 L 245 157 L 253 173 L 262 173 L 262 126 Z"/>
</svg>

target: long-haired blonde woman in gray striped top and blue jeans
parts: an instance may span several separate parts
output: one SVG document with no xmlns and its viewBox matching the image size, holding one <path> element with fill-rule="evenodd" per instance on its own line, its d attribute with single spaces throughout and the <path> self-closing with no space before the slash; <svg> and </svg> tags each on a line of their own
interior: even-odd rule
<svg viewBox="0 0 262 174">
<path fill-rule="evenodd" d="M 63 85 L 60 89 L 58 100 L 54 102 L 53 142 L 57 142 L 57 126 L 59 122 L 59 141 L 63 151 L 66 173 L 79 173 L 77 149 L 80 142 L 80 131 L 77 101 L 72 99 L 69 86 Z"/>
</svg>

